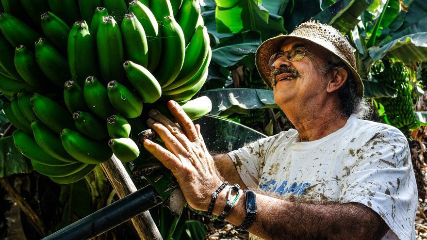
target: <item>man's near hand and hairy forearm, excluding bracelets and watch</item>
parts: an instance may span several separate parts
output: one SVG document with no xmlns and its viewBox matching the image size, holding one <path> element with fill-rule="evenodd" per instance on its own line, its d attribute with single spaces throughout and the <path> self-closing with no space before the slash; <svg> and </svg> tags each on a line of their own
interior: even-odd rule
<svg viewBox="0 0 427 240">
<path fill-rule="evenodd" d="M 223 179 L 217 174 L 199 126 L 193 124 L 177 103 L 170 101 L 168 107 L 181 128 L 159 112 L 151 111 L 148 125 L 160 135 L 167 150 L 149 140 L 144 141 L 144 146 L 171 170 L 188 204 L 206 211 L 212 192 Z M 230 160 L 226 166 L 230 166 Z M 216 199 L 215 215 L 224 209 L 226 192 L 220 192 Z M 265 239 L 379 239 L 386 229 L 374 211 L 355 203 L 318 205 L 257 194 L 257 206 L 257 219 L 249 231 Z M 245 216 L 245 201 L 241 198 L 227 221 L 240 225 Z"/>
</svg>

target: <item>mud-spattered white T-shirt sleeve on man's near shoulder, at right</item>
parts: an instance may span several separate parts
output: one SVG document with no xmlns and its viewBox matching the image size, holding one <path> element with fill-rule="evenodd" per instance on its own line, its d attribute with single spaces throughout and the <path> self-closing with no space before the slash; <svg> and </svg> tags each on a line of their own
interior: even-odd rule
<svg viewBox="0 0 427 240">
<path fill-rule="evenodd" d="M 398 129 L 381 129 L 361 148 L 350 148 L 340 200 L 373 209 L 399 239 L 411 239 L 418 193 L 409 145 Z"/>
</svg>

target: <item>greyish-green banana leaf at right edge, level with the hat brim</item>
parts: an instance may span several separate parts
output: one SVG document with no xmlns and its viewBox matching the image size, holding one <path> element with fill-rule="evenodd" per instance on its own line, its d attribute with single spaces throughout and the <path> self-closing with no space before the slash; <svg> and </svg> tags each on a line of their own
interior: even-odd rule
<svg viewBox="0 0 427 240">
<path fill-rule="evenodd" d="M 427 32 L 418 32 L 395 39 L 380 48 L 370 48 L 371 62 L 385 55 L 405 64 L 427 61 Z"/>
</svg>

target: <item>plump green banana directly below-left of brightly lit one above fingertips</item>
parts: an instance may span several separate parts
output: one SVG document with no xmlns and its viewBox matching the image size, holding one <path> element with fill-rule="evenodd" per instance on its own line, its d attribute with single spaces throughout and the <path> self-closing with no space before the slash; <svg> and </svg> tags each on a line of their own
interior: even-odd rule
<svg viewBox="0 0 427 240">
<path fill-rule="evenodd" d="M 107 85 L 108 99 L 113 107 L 127 118 L 141 115 L 142 100 L 124 85 L 110 81 Z"/>
</svg>

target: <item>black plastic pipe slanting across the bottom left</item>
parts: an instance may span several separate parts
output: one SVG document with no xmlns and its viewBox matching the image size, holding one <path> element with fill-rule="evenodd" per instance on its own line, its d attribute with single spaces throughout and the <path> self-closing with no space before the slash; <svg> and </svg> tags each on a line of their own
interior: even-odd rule
<svg viewBox="0 0 427 240">
<path fill-rule="evenodd" d="M 146 186 L 42 240 L 92 239 L 161 203 L 154 188 Z"/>
</svg>

